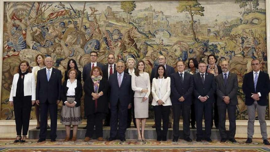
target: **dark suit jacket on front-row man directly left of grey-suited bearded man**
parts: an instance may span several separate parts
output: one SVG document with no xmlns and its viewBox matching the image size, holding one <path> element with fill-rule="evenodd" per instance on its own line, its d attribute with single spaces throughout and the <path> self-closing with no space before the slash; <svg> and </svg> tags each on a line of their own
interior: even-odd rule
<svg viewBox="0 0 270 152">
<path fill-rule="evenodd" d="M 196 73 L 194 76 L 194 96 L 195 96 L 195 104 L 201 102 L 198 97 L 201 96 L 208 96 L 209 98 L 205 101 L 205 103 L 214 103 L 214 93 L 216 91 L 216 81 L 214 74 L 205 73 L 204 76 L 204 84 L 201 79 L 201 74 Z"/>
</svg>

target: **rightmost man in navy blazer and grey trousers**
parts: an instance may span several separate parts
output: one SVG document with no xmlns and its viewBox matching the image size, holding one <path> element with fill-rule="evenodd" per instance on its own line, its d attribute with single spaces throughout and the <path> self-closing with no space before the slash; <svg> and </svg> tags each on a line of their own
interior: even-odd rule
<svg viewBox="0 0 270 152">
<path fill-rule="evenodd" d="M 243 80 L 243 92 L 245 93 L 245 105 L 248 109 L 248 139 L 246 143 L 252 142 L 254 134 L 255 112 L 257 109 L 260 122 L 260 132 L 265 145 L 270 145 L 267 140 L 267 128 L 265 122 L 265 110 L 268 105 L 267 96 L 270 92 L 270 80 L 267 73 L 260 71 L 260 61 L 254 59 L 251 61 L 253 71 L 245 74 Z"/>
</svg>

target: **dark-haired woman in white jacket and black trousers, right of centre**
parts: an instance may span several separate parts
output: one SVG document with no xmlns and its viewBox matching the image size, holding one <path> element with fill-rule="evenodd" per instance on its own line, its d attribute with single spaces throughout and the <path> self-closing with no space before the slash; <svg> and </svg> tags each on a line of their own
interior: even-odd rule
<svg viewBox="0 0 270 152">
<path fill-rule="evenodd" d="M 172 105 L 171 78 L 167 76 L 164 65 L 159 65 L 156 76 L 152 81 L 152 106 L 154 106 L 157 141 L 167 140 L 170 107 Z M 161 131 L 161 119 L 163 119 L 163 131 Z"/>
</svg>

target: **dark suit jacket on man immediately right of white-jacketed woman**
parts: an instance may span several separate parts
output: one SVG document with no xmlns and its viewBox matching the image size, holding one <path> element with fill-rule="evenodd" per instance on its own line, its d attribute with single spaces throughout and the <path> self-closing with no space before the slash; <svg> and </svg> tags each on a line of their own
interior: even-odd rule
<svg viewBox="0 0 270 152">
<path fill-rule="evenodd" d="M 184 73 L 183 84 L 180 83 L 180 76 L 178 72 L 171 75 L 171 93 L 172 104 L 192 104 L 192 92 L 193 92 L 193 76 L 187 72 Z M 179 102 L 178 99 L 183 96 L 185 99 L 183 102 Z"/>
</svg>

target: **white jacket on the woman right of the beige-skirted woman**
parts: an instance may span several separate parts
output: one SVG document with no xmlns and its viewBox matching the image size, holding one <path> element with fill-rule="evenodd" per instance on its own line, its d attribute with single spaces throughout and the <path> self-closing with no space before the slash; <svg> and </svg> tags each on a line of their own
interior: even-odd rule
<svg viewBox="0 0 270 152">
<path fill-rule="evenodd" d="M 164 102 L 164 104 L 162 104 L 163 106 L 171 106 L 172 102 L 170 99 L 170 94 L 171 94 L 171 78 L 167 77 L 166 79 L 164 79 L 164 77 L 162 78 L 161 81 L 161 86 L 159 87 L 159 80 L 156 78 L 153 78 L 152 81 L 152 96 L 153 96 L 153 100 L 152 100 L 152 106 L 157 106 L 157 100 L 159 100 L 159 92 L 160 92 L 160 96 L 161 96 L 161 100 Z"/>
</svg>

